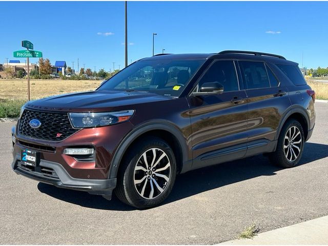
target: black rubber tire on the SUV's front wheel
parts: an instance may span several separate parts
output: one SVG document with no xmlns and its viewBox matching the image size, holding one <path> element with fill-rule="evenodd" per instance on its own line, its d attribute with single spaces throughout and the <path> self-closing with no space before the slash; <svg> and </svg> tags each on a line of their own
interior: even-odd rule
<svg viewBox="0 0 328 246">
<path fill-rule="evenodd" d="M 153 149 L 155 149 L 156 154 L 153 154 L 154 153 Z M 155 160 L 153 156 L 157 156 L 158 153 L 160 153 L 161 155 L 163 153 L 166 154 L 166 156 L 164 156 L 159 161 L 157 166 L 154 168 L 158 168 L 160 167 L 160 165 L 165 167 L 167 165 L 170 165 L 169 170 L 160 171 L 160 172 L 167 172 L 167 173 L 169 172 L 169 174 L 166 173 L 166 175 L 169 176 L 168 181 L 166 181 L 166 179 L 163 179 L 162 177 L 154 176 L 156 169 L 153 173 L 151 173 L 151 175 L 149 175 L 149 171 L 151 170 L 149 170 L 148 173 L 145 172 L 144 170 L 138 170 L 138 171 L 135 170 L 136 166 L 138 166 L 138 168 L 140 168 L 140 166 L 142 168 L 146 168 L 146 163 L 144 161 L 144 156 L 143 156 L 144 153 L 147 153 L 146 159 L 150 163 L 147 164 L 148 166 L 151 166 L 152 163 L 154 164 L 153 166 L 155 166 L 155 163 L 159 159 L 157 158 Z M 152 156 L 148 156 L 148 155 L 152 155 Z M 153 159 L 155 161 L 153 161 Z M 166 163 L 167 161 L 169 161 L 169 163 Z M 165 200 L 168 197 L 168 195 L 171 193 L 176 177 L 176 160 L 171 147 L 167 144 L 166 141 L 162 140 L 161 138 L 147 137 L 142 139 L 141 141 L 136 142 L 136 144 L 134 144 L 130 148 L 128 153 L 126 153 L 120 165 L 121 166 L 119 167 L 119 171 L 117 174 L 117 186 L 114 192 L 118 197 L 118 199 L 121 200 L 122 202 L 138 209 L 146 209 L 146 208 L 157 206 L 163 200 Z M 158 170 L 163 168 L 164 167 L 158 168 Z M 142 178 L 144 178 L 142 175 L 146 176 L 147 184 L 145 184 L 144 181 L 140 184 L 135 185 L 135 176 L 137 175 L 140 175 L 139 177 Z M 141 180 L 142 178 L 138 178 L 136 181 Z M 159 186 L 160 186 L 160 181 L 162 182 L 163 186 L 160 186 L 160 189 L 163 190 L 162 192 L 158 188 L 156 188 L 155 181 L 153 181 L 155 179 L 156 179 L 156 184 Z M 142 192 L 142 189 L 140 191 L 141 185 L 144 192 Z M 144 188 L 144 185 L 146 188 Z M 155 195 L 157 195 L 154 198 L 151 198 L 152 190 L 153 190 L 153 194 L 155 194 L 156 192 Z M 141 196 L 141 193 L 144 193 L 144 196 L 146 198 Z M 149 194 L 148 198 L 147 198 L 147 194 Z"/>
</svg>

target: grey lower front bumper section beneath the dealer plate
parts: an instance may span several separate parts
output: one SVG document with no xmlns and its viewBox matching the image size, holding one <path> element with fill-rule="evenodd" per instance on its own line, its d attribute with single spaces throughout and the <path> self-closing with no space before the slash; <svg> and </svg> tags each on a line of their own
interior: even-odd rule
<svg viewBox="0 0 328 246">
<path fill-rule="evenodd" d="M 20 159 L 21 155 L 19 153 L 16 153 L 14 160 L 11 164 L 11 167 L 15 173 L 43 183 L 54 185 L 58 188 L 87 191 L 90 194 L 103 195 L 106 197 L 106 199 L 110 199 L 112 196 L 112 191 L 116 187 L 116 178 L 73 178 L 59 163 L 47 160 L 40 160 L 36 168 L 24 168 L 24 166 L 21 165 Z M 53 170 L 53 172 L 51 170 Z M 49 175 L 49 172 L 52 172 L 53 175 Z"/>
</svg>

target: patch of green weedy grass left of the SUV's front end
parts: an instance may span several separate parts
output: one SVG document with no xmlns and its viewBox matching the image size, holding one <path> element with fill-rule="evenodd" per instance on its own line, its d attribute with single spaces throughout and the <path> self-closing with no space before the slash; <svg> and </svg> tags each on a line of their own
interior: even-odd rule
<svg viewBox="0 0 328 246">
<path fill-rule="evenodd" d="M 0 99 L 0 118 L 19 117 L 20 108 L 25 103 L 23 99 Z"/>
</svg>

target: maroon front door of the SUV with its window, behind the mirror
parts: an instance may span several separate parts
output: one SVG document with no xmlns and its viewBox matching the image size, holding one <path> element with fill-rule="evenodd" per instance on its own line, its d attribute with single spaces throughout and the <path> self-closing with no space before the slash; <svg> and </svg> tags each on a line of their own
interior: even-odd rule
<svg viewBox="0 0 328 246">
<path fill-rule="evenodd" d="M 198 81 L 219 82 L 222 94 L 189 96 L 193 169 L 241 158 L 247 150 L 247 97 L 234 60 L 215 60 Z"/>
</svg>

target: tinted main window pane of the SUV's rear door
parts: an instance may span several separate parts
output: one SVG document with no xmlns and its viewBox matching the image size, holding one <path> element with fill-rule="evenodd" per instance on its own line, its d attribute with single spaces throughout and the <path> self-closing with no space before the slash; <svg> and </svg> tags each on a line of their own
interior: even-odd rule
<svg viewBox="0 0 328 246">
<path fill-rule="evenodd" d="M 267 70 L 263 63 L 239 61 L 241 75 L 248 89 L 270 87 Z"/>
</svg>

